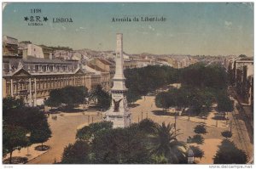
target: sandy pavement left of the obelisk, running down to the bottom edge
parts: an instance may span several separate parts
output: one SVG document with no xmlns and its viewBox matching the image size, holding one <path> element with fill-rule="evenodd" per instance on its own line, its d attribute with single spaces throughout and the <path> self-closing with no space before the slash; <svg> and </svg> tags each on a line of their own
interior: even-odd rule
<svg viewBox="0 0 256 169">
<path fill-rule="evenodd" d="M 90 120 L 88 116 L 90 115 Z M 49 138 L 44 145 L 50 147 L 46 151 L 38 151 L 34 148 L 40 144 L 32 144 L 28 147 L 29 155 L 27 155 L 27 148 L 15 150 L 13 156 L 22 156 L 28 158 L 27 164 L 52 164 L 55 161 L 61 161 L 61 155 L 64 148 L 68 144 L 73 144 L 75 142 L 75 134 L 78 127 L 84 127 L 92 121 L 100 121 L 100 115 L 96 112 L 79 112 L 79 113 L 61 113 L 57 114 L 57 120 L 51 118 L 49 115 L 48 122 L 49 127 L 52 131 L 52 137 Z M 6 155 L 9 158 L 9 155 Z"/>
</svg>

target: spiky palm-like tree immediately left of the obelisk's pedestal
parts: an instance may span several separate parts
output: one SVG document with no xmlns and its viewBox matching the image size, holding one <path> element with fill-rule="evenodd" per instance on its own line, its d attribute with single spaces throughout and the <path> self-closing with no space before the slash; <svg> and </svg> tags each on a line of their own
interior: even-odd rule
<svg viewBox="0 0 256 169">
<path fill-rule="evenodd" d="M 111 104 L 111 96 L 102 89 L 101 85 L 97 85 L 92 89 L 90 99 L 96 99 L 97 105 L 104 110 L 108 110 Z"/>
</svg>

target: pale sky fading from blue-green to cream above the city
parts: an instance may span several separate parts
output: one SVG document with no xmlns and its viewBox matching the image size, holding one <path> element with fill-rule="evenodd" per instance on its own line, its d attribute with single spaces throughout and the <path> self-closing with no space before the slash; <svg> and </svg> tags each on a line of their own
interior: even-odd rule
<svg viewBox="0 0 256 169">
<path fill-rule="evenodd" d="M 28 25 L 34 22 L 24 17 L 31 16 L 48 20 Z M 166 21 L 112 22 L 125 17 Z M 115 50 L 116 33 L 123 33 L 128 54 L 253 56 L 253 25 L 253 3 L 9 3 L 3 9 L 3 35 L 19 42 Z"/>
</svg>

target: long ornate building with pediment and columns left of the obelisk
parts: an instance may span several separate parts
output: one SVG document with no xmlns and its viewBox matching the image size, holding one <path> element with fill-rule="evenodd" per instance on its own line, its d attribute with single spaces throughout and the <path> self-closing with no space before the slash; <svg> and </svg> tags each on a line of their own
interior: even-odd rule
<svg viewBox="0 0 256 169">
<path fill-rule="evenodd" d="M 53 89 L 84 86 L 90 90 L 100 80 L 77 61 L 3 57 L 3 98 L 20 98 L 30 106 L 44 104 Z"/>
</svg>

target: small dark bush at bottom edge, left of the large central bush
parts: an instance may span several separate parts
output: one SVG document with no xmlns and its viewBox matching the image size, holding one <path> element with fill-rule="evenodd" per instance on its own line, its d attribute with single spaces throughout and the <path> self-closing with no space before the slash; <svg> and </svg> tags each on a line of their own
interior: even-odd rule
<svg viewBox="0 0 256 169">
<path fill-rule="evenodd" d="M 62 164 L 90 164 L 90 146 L 83 140 L 68 144 L 62 154 Z"/>
</svg>

